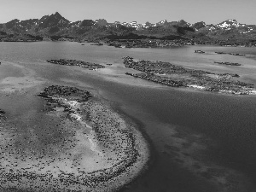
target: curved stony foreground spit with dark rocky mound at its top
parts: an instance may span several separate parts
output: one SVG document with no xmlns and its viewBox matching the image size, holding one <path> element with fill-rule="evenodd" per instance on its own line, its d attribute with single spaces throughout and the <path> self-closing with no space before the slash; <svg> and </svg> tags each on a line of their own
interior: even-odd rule
<svg viewBox="0 0 256 192">
<path fill-rule="evenodd" d="M 18 152 L 18 143 L 4 138 L 0 191 L 113 191 L 142 172 L 147 143 L 107 103 L 86 90 L 60 85 L 38 96 L 44 99 L 43 113 L 61 119 L 55 127 L 61 137 L 45 143 L 47 148 Z"/>
</svg>

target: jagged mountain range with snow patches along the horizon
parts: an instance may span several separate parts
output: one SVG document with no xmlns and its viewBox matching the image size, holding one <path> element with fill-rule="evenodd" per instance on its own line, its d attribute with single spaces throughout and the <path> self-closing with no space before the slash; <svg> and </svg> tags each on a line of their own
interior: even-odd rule
<svg viewBox="0 0 256 192">
<path fill-rule="evenodd" d="M 217 25 L 200 21 L 190 24 L 185 20 L 161 20 L 158 23 L 138 24 L 136 21 L 108 23 L 107 20 L 67 20 L 58 12 L 41 19 L 10 20 L 0 24 L 2 41 L 26 41 L 53 38 L 74 39 L 184 39 L 197 43 L 223 42 L 224 44 L 256 44 L 256 25 L 224 20 Z"/>
</svg>

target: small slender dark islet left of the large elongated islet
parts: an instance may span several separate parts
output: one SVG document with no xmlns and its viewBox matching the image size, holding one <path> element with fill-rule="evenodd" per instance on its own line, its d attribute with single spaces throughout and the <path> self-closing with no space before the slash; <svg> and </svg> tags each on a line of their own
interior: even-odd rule
<svg viewBox="0 0 256 192">
<path fill-rule="evenodd" d="M 85 62 L 85 61 L 78 61 L 78 60 L 47 60 L 49 63 L 57 64 L 57 65 L 65 65 L 65 66 L 79 66 L 83 68 L 89 68 L 89 69 L 98 69 L 98 68 L 104 68 L 104 66 L 96 63 L 91 62 Z"/>
</svg>

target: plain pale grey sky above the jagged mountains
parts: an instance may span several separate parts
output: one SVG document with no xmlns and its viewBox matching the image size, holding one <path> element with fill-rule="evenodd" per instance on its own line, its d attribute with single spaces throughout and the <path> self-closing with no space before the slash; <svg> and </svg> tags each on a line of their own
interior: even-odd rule
<svg viewBox="0 0 256 192">
<path fill-rule="evenodd" d="M 70 21 L 185 20 L 218 24 L 235 19 L 242 24 L 256 25 L 256 0 L 0 0 L 0 8 L 0 23 L 40 19 L 57 11 Z"/>
</svg>

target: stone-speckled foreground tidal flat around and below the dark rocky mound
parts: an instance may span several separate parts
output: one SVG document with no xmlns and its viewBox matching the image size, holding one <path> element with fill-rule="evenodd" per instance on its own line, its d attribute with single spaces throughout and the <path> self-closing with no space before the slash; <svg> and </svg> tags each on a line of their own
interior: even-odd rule
<svg viewBox="0 0 256 192">
<path fill-rule="evenodd" d="M 113 191 L 145 169 L 148 144 L 131 119 L 96 96 L 52 105 L 37 96 L 49 80 L 19 69 L 0 82 L 0 191 Z"/>
</svg>

